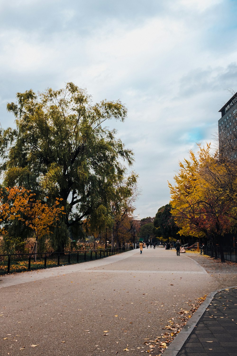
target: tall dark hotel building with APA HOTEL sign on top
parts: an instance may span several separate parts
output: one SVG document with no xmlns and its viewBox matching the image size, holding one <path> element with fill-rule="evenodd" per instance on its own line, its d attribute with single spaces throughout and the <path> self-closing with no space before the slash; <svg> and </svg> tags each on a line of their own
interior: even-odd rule
<svg viewBox="0 0 237 356">
<path fill-rule="evenodd" d="M 237 158 L 237 93 L 219 110 L 218 121 L 220 154 Z"/>
</svg>

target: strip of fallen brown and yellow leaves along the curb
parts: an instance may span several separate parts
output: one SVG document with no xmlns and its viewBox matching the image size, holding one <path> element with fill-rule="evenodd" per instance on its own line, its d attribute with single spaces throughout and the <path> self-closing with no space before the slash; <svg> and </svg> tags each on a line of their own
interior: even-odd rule
<svg viewBox="0 0 237 356">
<path fill-rule="evenodd" d="M 163 330 L 166 330 L 166 332 L 161 334 L 161 336 L 156 336 L 155 338 L 153 338 L 153 340 L 144 339 L 147 340 L 144 342 L 144 344 L 149 346 L 149 350 L 147 351 L 142 350 L 141 352 L 149 352 L 150 354 L 155 354 L 155 356 L 161 356 L 163 352 L 167 349 L 169 344 L 176 337 L 176 335 L 181 331 L 183 326 L 187 324 L 191 316 L 200 307 L 201 303 L 204 302 L 205 299 L 206 299 L 206 295 L 204 295 L 204 297 L 198 298 L 195 304 L 193 303 L 187 304 L 191 307 L 190 310 L 180 308 L 178 313 L 181 315 L 179 317 L 180 318 L 179 323 L 174 321 L 175 318 L 169 319 L 168 320 L 169 324 L 165 326 L 165 328 L 163 328 Z M 159 350 L 157 350 L 157 348 Z"/>
</svg>

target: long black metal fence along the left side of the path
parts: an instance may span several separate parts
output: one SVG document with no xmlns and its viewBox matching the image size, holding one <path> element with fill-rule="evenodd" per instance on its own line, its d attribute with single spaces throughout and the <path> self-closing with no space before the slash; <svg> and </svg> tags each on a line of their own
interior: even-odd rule
<svg viewBox="0 0 237 356">
<path fill-rule="evenodd" d="M 85 251 L 42 252 L 42 253 L 14 253 L 0 255 L 0 275 L 13 272 L 31 271 L 33 269 L 65 266 L 89 260 L 97 260 L 133 250 L 132 246 L 104 248 Z M 36 257 L 36 258 L 35 258 Z M 36 259 L 36 262 L 35 262 Z"/>
</svg>

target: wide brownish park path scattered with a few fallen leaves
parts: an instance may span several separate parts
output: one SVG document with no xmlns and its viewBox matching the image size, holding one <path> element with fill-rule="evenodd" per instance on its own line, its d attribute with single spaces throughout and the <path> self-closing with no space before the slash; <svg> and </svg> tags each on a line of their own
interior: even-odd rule
<svg viewBox="0 0 237 356">
<path fill-rule="evenodd" d="M 0 355 L 140 355 L 180 308 L 223 284 L 189 256 L 149 247 L 0 277 Z"/>
</svg>

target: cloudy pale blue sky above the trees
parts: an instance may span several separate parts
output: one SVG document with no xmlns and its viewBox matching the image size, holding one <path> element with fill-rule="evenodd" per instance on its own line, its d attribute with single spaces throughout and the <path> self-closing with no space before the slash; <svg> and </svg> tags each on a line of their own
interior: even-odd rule
<svg viewBox="0 0 237 356">
<path fill-rule="evenodd" d="M 167 180 L 196 143 L 213 142 L 218 112 L 237 91 L 235 0 L 0 2 L 0 124 L 17 92 L 73 82 L 94 102 L 121 100 L 110 121 L 134 152 L 134 215 L 169 203 Z"/>
</svg>

